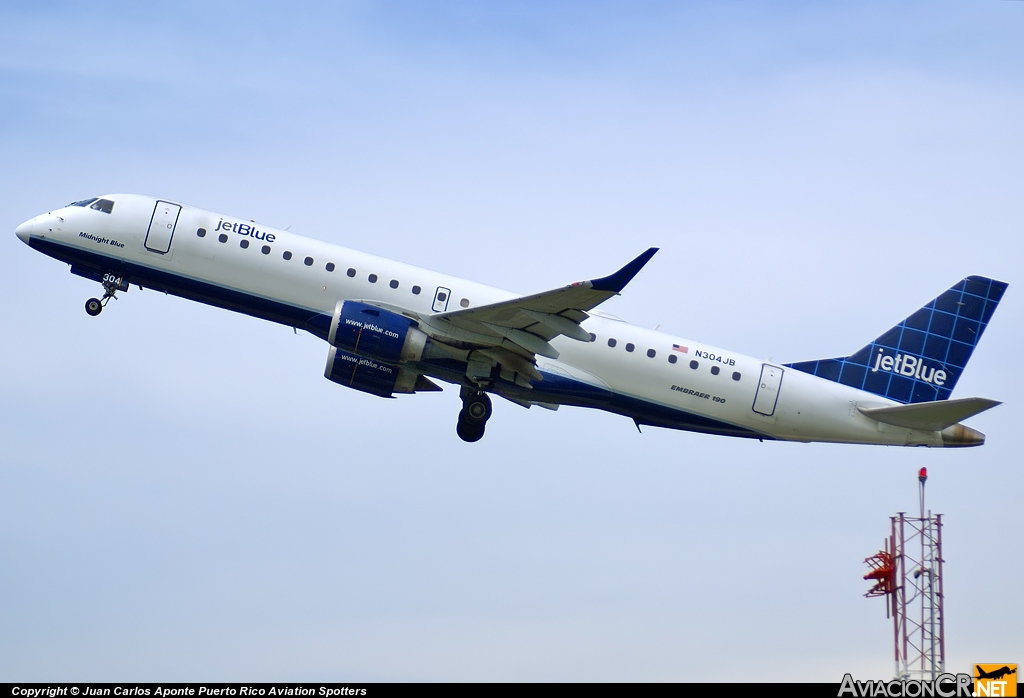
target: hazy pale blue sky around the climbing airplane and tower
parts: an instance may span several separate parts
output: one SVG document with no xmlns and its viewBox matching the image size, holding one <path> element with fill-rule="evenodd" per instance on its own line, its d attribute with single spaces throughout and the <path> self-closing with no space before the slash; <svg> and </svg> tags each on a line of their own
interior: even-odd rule
<svg viewBox="0 0 1024 698">
<path fill-rule="evenodd" d="M 862 560 L 921 466 L 947 667 L 1024 662 L 1022 36 L 990 0 L 3 3 L 0 681 L 888 678 Z M 88 317 L 14 227 L 119 191 L 521 293 L 659 246 L 608 311 L 776 361 L 986 274 L 954 397 L 1006 404 L 965 450 L 504 400 L 466 444 L 455 389 L 347 390 L 311 336 Z"/>
</svg>

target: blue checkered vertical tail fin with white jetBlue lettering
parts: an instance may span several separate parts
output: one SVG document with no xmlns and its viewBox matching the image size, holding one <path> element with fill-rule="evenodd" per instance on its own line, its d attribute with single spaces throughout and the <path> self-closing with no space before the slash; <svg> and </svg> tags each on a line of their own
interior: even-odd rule
<svg viewBox="0 0 1024 698">
<path fill-rule="evenodd" d="M 945 400 L 1007 286 L 968 276 L 852 356 L 785 365 L 898 402 Z"/>
</svg>

